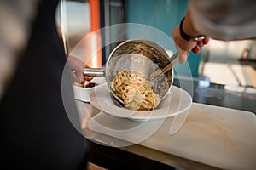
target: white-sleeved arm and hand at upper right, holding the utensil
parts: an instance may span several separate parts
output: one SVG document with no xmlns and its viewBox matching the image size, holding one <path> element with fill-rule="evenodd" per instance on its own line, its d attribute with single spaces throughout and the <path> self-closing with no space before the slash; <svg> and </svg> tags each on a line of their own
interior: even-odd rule
<svg viewBox="0 0 256 170">
<path fill-rule="evenodd" d="M 183 31 L 190 37 L 207 35 L 201 42 L 185 41 L 177 26 L 172 31 L 179 52 L 179 62 L 183 64 L 189 51 L 200 53 L 207 44 L 208 37 L 219 40 L 234 40 L 256 35 L 256 1 L 253 0 L 190 0 L 189 10 L 183 20 Z"/>
</svg>

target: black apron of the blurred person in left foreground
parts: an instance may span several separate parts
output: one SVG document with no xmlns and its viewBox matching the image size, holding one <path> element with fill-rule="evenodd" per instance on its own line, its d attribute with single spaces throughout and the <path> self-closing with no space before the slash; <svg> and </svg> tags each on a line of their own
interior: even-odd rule
<svg viewBox="0 0 256 170">
<path fill-rule="evenodd" d="M 32 35 L 0 103 L 1 167 L 6 169 L 86 169 L 84 137 L 61 99 L 66 59 L 55 27 L 56 6 L 53 0 L 39 4 Z M 66 86 L 69 108 L 77 114 L 71 84 Z"/>
</svg>

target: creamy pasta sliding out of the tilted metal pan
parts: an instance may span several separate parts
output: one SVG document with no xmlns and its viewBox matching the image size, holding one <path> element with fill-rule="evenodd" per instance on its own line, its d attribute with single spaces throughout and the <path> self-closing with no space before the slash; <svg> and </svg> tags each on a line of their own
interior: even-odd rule
<svg viewBox="0 0 256 170">
<path fill-rule="evenodd" d="M 160 104 L 159 94 L 154 94 L 143 74 L 119 71 L 111 82 L 111 88 L 131 110 L 150 111 Z"/>
</svg>

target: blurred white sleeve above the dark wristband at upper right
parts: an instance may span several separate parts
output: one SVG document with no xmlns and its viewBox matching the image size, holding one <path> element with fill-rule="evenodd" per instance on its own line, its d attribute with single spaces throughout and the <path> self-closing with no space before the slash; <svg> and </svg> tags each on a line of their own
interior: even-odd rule
<svg viewBox="0 0 256 170">
<path fill-rule="evenodd" d="M 213 39 L 256 36 L 255 0 L 190 0 L 189 11 L 195 28 Z"/>
</svg>

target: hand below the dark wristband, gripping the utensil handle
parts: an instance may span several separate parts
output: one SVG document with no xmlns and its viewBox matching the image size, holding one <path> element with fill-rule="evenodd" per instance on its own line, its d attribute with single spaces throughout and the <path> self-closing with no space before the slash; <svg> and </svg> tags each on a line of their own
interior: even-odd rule
<svg viewBox="0 0 256 170">
<path fill-rule="evenodd" d="M 172 31 L 172 37 L 175 42 L 177 52 L 178 52 L 178 61 L 180 64 L 184 64 L 186 60 L 189 57 L 189 52 L 192 51 L 194 54 L 200 53 L 200 48 L 206 45 L 209 42 L 209 37 L 206 37 L 204 40 L 200 42 L 189 42 L 187 40 L 184 40 L 183 37 L 181 37 L 179 32 L 179 26 L 177 26 Z"/>
</svg>

